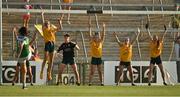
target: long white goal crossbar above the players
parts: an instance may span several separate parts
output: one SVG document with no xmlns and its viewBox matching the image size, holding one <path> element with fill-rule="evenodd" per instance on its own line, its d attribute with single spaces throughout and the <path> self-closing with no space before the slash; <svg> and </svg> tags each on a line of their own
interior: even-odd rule
<svg viewBox="0 0 180 97">
<path fill-rule="evenodd" d="M 87 10 L 48 10 L 44 9 L 44 13 L 71 13 L 71 14 L 87 14 Z M 6 8 L 2 8 L 2 13 L 4 12 L 16 12 L 16 13 L 26 13 L 26 9 L 16 9 L 16 8 L 9 8 L 8 10 Z M 29 10 L 31 13 L 41 13 L 41 9 L 31 9 Z M 103 10 L 102 14 L 125 14 L 125 15 L 147 15 L 147 14 L 166 14 L 166 15 L 172 15 L 172 14 L 180 14 L 180 11 L 118 11 L 118 10 Z"/>
</svg>

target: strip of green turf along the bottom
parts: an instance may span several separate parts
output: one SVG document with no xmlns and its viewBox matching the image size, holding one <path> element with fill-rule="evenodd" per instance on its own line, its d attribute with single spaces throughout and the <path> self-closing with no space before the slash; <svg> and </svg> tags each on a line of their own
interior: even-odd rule
<svg viewBox="0 0 180 97">
<path fill-rule="evenodd" d="M 180 96 L 176 86 L 0 86 L 0 96 Z"/>
</svg>

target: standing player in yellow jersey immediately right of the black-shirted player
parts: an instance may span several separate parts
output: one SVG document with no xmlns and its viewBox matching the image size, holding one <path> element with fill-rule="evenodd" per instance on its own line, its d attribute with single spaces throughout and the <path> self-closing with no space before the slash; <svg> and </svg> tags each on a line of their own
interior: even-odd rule
<svg viewBox="0 0 180 97">
<path fill-rule="evenodd" d="M 105 24 L 103 23 L 103 32 L 100 36 L 99 33 L 95 33 L 92 35 L 91 32 L 91 19 L 89 17 L 89 35 L 90 35 L 90 48 L 91 48 L 91 66 L 90 66 L 90 73 L 89 73 L 89 86 L 91 86 L 91 80 L 93 78 L 95 68 L 97 67 L 99 79 L 101 82 L 101 86 L 104 85 L 103 83 L 103 74 L 102 74 L 102 45 L 105 38 Z"/>
</svg>

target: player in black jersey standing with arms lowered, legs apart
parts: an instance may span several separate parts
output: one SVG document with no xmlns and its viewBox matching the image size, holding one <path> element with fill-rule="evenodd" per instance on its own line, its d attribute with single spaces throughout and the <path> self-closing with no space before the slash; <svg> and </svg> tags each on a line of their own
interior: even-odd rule
<svg viewBox="0 0 180 97">
<path fill-rule="evenodd" d="M 64 68 L 66 67 L 66 65 L 71 65 L 75 76 L 76 76 L 76 84 L 80 85 L 80 78 L 79 78 L 79 73 L 77 70 L 77 65 L 75 62 L 75 56 L 74 56 L 74 48 L 79 50 L 79 46 L 76 43 L 73 43 L 70 41 L 70 35 L 69 34 L 65 34 L 64 35 L 64 43 L 61 44 L 61 46 L 58 48 L 57 52 L 59 53 L 61 50 L 63 51 L 63 60 L 62 60 L 62 64 L 59 66 L 59 74 L 58 74 L 58 81 L 57 81 L 57 85 L 59 85 L 59 83 L 61 82 L 61 78 L 62 78 L 62 73 L 64 71 Z"/>
</svg>

